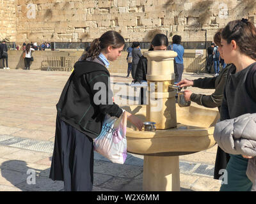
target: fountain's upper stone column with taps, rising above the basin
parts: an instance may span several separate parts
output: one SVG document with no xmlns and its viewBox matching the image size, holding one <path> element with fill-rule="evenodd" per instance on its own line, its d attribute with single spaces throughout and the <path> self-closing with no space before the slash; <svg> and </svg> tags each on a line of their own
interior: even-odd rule
<svg viewBox="0 0 256 204">
<path fill-rule="evenodd" d="M 156 129 L 169 129 L 177 126 L 175 90 L 169 87 L 175 79 L 173 51 L 143 52 L 147 57 L 147 81 L 149 97 L 147 121 L 156 122 Z"/>
</svg>

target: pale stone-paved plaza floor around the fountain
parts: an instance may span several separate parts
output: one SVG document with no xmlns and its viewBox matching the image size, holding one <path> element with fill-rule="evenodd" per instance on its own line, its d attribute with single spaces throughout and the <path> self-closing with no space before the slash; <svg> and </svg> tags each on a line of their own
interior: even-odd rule
<svg viewBox="0 0 256 204">
<path fill-rule="evenodd" d="M 123 74 L 111 75 L 114 84 L 132 81 Z M 0 69 L 0 191 L 63 191 L 62 181 L 48 177 L 56 103 L 69 76 L 61 71 Z M 183 74 L 183 78 L 199 77 L 213 75 Z M 201 94 L 213 92 L 188 89 Z M 213 179 L 216 150 L 217 145 L 179 157 L 181 191 L 219 191 L 220 182 Z M 35 183 L 30 177 L 33 173 Z M 115 164 L 95 152 L 93 191 L 142 191 L 142 180 L 143 156 L 129 154 L 125 164 Z"/>
</svg>

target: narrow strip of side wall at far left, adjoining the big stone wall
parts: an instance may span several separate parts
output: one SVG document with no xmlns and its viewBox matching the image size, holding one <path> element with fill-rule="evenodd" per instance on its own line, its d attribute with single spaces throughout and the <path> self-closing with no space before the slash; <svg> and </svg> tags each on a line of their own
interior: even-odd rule
<svg viewBox="0 0 256 204">
<path fill-rule="evenodd" d="M 16 1 L 0 0 L 0 40 L 16 41 Z"/>
</svg>

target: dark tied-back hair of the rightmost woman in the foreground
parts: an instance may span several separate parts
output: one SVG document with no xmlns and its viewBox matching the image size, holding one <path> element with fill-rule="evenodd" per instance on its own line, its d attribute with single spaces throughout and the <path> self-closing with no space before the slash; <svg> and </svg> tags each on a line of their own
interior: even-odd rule
<svg viewBox="0 0 256 204">
<path fill-rule="evenodd" d="M 236 41 L 240 52 L 256 60 L 256 28 L 247 19 L 230 21 L 221 32 L 221 38 L 230 44 Z"/>
</svg>

